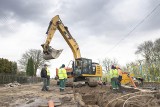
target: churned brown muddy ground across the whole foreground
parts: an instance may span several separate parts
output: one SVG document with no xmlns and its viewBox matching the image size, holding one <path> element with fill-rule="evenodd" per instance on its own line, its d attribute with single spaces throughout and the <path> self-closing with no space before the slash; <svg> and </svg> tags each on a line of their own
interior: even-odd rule
<svg viewBox="0 0 160 107">
<path fill-rule="evenodd" d="M 47 107 L 54 101 L 57 107 L 160 107 L 159 90 L 122 88 L 113 91 L 110 85 L 97 87 L 67 87 L 59 92 L 56 81 L 50 91 L 41 91 L 42 83 L 0 87 L 0 107 Z"/>
</svg>

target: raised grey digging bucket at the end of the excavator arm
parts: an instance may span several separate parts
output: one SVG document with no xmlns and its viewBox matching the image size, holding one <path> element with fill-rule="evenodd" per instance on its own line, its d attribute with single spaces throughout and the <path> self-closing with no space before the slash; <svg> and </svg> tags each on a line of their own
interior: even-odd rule
<svg viewBox="0 0 160 107">
<path fill-rule="evenodd" d="M 50 59 L 56 59 L 59 57 L 59 55 L 62 53 L 63 49 L 56 50 L 56 49 L 50 49 L 49 53 L 43 54 L 43 58 L 45 60 L 50 60 Z"/>
</svg>

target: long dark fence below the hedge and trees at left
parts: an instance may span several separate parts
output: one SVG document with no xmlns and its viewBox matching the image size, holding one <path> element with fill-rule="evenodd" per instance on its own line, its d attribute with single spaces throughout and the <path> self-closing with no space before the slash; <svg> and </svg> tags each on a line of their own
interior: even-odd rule
<svg viewBox="0 0 160 107">
<path fill-rule="evenodd" d="M 28 76 L 18 76 L 18 75 L 5 75 L 0 74 L 0 84 L 7 84 L 17 81 L 18 83 L 37 83 L 41 82 L 40 77 L 28 77 Z"/>
</svg>

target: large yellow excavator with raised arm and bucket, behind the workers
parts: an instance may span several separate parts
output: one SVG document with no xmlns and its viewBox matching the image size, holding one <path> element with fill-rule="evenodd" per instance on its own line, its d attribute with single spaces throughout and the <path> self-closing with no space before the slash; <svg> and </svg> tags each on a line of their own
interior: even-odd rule
<svg viewBox="0 0 160 107">
<path fill-rule="evenodd" d="M 41 45 L 44 53 L 43 58 L 45 60 L 56 59 L 62 52 L 62 50 L 56 50 L 49 46 L 57 29 L 73 52 L 73 56 L 75 59 L 72 64 L 73 81 L 85 81 L 89 86 L 96 86 L 97 77 L 102 76 L 102 66 L 98 63 L 92 62 L 91 59 L 81 57 L 78 43 L 72 37 L 68 28 L 64 26 L 59 15 L 53 17 L 48 26 L 48 30 L 46 32 L 47 39 L 45 43 Z"/>
</svg>

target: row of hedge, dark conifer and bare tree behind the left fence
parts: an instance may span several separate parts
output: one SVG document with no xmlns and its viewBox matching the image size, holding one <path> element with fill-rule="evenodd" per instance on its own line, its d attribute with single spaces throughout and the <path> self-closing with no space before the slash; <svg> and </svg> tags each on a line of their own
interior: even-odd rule
<svg viewBox="0 0 160 107">
<path fill-rule="evenodd" d="M 19 67 L 17 67 L 17 62 L 0 58 L 0 73 L 36 76 L 38 67 L 42 66 L 45 62 L 47 61 L 43 59 L 41 50 L 30 49 L 18 60 Z"/>
</svg>

